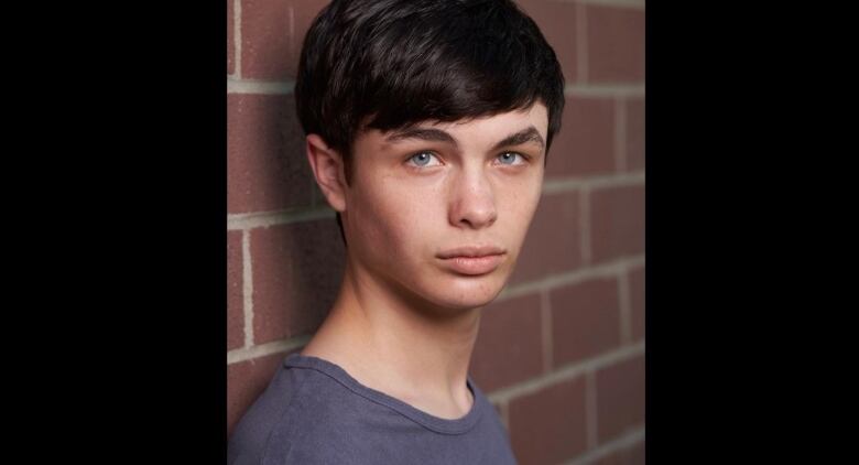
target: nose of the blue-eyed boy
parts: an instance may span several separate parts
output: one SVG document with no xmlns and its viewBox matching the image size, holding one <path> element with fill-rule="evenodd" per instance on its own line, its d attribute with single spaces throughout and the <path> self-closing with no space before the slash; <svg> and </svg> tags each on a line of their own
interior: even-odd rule
<svg viewBox="0 0 859 465">
<path fill-rule="evenodd" d="M 463 170 L 453 177 L 449 208 L 450 225 L 481 229 L 498 219 L 492 184 L 480 169 Z"/>
</svg>

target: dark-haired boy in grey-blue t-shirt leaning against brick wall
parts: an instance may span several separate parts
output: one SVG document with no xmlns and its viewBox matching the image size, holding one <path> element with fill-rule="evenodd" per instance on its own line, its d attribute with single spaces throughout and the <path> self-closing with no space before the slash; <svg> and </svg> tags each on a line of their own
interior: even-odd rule
<svg viewBox="0 0 859 465">
<path fill-rule="evenodd" d="M 230 463 L 515 463 L 468 364 L 561 127 L 554 52 L 508 0 L 335 0 L 307 32 L 295 99 L 346 269 Z"/>
</svg>

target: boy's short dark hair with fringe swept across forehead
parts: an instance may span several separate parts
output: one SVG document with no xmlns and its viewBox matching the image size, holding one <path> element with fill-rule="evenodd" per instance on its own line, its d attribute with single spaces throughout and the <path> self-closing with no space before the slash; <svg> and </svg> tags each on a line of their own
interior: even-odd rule
<svg viewBox="0 0 859 465">
<path fill-rule="evenodd" d="M 339 1 L 314 21 L 295 86 L 306 133 L 350 153 L 358 131 L 401 130 L 546 106 L 564 77 L 536 24 L 505 0 Z"/>
</svg>

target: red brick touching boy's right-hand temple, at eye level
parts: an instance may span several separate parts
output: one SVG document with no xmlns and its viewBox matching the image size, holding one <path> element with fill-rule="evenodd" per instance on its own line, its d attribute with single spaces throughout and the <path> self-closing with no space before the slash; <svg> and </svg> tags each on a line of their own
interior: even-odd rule
<svg viewBox="0 0 859 465">
<path fill-rule="evenodd" d="M 615 101 L 567 97 L 561 131 L 548 151 L 546 177 L 585 176 L 615 170 Z"/>
</svg>

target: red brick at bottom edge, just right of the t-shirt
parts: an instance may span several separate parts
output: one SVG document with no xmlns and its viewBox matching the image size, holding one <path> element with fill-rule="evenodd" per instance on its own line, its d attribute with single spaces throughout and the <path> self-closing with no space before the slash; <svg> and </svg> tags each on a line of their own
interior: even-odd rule
<svg viewBox="0 0 859 465">
<path fill-rule="evenodd" d="M 512 399 L 509 415 L 510 442 L 521 465 L 561 463 L 586 448 L 583 378 Z"/>
</svg>

